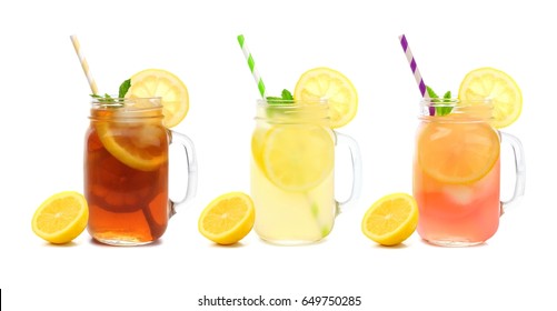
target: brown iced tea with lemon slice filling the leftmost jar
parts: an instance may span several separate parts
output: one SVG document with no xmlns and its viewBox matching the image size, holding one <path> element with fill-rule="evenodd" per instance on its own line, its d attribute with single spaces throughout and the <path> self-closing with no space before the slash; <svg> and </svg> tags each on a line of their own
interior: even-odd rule
<svg viewBox="0 0 557 311">
<path fill-rule="evenodd" d="M 116 245 L 152 242 L 169 219 L 167 131 L 157 116 L 127 114 L 91 110 L 86 136 L 88 230 Z"/>
</svg>

